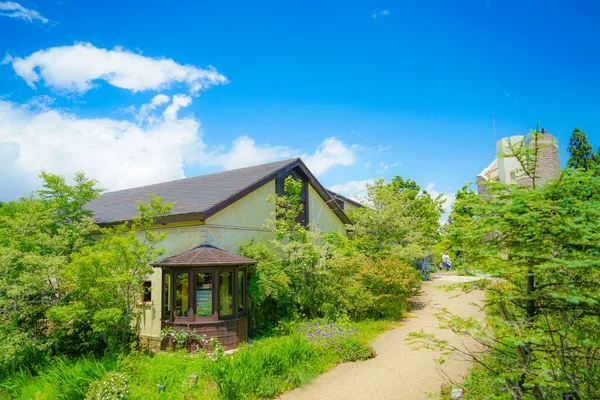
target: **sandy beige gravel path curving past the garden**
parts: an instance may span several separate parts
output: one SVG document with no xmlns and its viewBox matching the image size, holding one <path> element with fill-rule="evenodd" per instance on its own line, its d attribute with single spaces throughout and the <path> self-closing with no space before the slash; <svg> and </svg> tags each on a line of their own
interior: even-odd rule
<svg viewBox="0 0 600 400">
<path fill-rule="evenodd" d="M 437 337 L 451 341 L 455 345 L 473 347 L 473 342 L 438 328 L 433 315 L 442 307 L 463 317 L 478 317 L 476 307 L 471 303 L 483 299 L 482 292 L 460 294 L 436 289 L 440 285 L 468 281 L 476 278 L 442 275 L 439 279 L 424 282 L 423 296 L 418 299 L 415 309 L 405 319 L 405 324 L 384 333 L 373 347 L 377 357 L 363 362 L 340 364 L 331 371 L 319 376 L 309 385 L 284 394 L 283 400 L 313 399 L 429 399 L 439 398 L 439 390 L 448 379 L 460 380 L 469 368 L 466 361 L 452 359 L 438 365 L 434 360 L 439 353 L 434 350 L 413 350 L 404 340 L 409 332 L 423 329 L 435 333 Z M 428 396 L 428 394 L 430 396 Z M 433 394 L 433 395 L 432 395 Z"/>
</svg>

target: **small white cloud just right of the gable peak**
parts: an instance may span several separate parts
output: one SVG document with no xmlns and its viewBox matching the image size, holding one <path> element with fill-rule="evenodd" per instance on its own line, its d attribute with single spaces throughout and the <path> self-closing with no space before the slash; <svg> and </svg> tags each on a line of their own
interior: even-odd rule
<svg viewBox="0 0 600 400">
<path fill-rule="evenodd" d="M 316 175 L 321 175 L 332 167 L 349 166 L 356 160 L 356 145 L 346 146 L 341 140 L 330 137 L 321 143 L 312 155 L 303 155 L 302 158 L 308 168 Z"/>
</svg>

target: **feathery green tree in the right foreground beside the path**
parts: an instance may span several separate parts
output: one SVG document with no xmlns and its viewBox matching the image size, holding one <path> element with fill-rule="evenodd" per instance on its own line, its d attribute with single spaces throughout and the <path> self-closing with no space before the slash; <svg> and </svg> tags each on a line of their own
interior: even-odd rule
<svg viewBox="0 0 600 400">
<path fill-rule="evenodd" d="M 490 183 L 463 232 L 474 266 L 490 276 L 476 284 L 488 319 L 446 313 L 443 322 L 487 350 L 453 349 L 488 371 L 481 398 L 600 398 L 600 178 L 567 170 L 537 185 L 535 149 L 513 151 L 532 185 Z"/>
</svg>

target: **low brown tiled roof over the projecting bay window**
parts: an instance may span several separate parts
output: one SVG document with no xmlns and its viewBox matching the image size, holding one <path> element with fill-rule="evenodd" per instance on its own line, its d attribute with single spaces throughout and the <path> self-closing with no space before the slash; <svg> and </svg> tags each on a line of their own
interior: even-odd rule
<svg viewBox="0 0 600 400">
<path fill-rule="evenodd" d="M 210 244 L 203 244 L 176 256 L 152 263 L 155 267 L 214 266 L 256 264 L 251 258 L 229 253 Z"/>
</svg>

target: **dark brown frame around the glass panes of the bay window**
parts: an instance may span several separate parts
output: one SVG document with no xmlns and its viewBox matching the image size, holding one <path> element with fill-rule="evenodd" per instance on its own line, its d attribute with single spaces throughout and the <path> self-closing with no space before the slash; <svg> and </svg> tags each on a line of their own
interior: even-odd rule
<svg viewBox="0 0 600 400">
<path fill-rule="evenodd" d="M 181 267 L 163 267 L 162 268 L 162 282 L 161 282 L 161 295 L 164 296 L 164 285 L 165 276 L 169 275 L 169 303 L 170 312 L 165 313 L 165 301 L 161 299 L 161 319 L 167 323 L 174 324 L 202 324 L 212 323 L 217 321 L 226 321 L 231 319 L 239 319 L 248 315 L 248 265 L 218 265 L 218 266 L 181 266 Z M 242 297 L 244 310 L 238 310 L 238 272 L 243 272 L 243 287 Z M 230 272 L 232 274 L 232 314 L 221 315 L 220 309 L 220 284 L 221 284 L 221 273 Z M 188 274 L 188 316 L 179 317 L 176 316 L 175 305 L 176 305 L 176 285 L 175 279 L 178 274 Z M 210 317 L 198 317 L 196 316 L 196 274 L 197 273 L 211 273 L 213 276 L 213 289 L 212 289 L 212 315 Z"/>
</svg>

